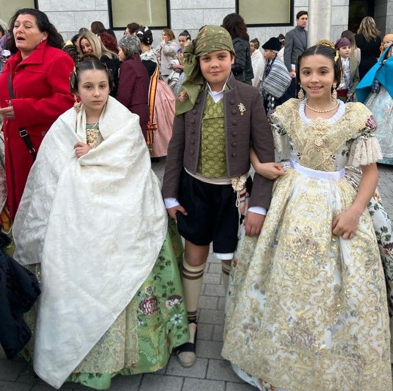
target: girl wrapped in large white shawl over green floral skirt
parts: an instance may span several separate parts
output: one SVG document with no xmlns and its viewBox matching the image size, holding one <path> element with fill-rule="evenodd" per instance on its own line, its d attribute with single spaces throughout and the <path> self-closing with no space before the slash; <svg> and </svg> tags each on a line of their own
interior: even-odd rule
<svg viewBox="0 0 393 391">
<path fill-rule="evenodd" d="M 15 258 L 42 290 L 24 354 L 56 388 L 155 372 L 188 341 L 181 241 L 139 117 L 108 96 L 112 86 L 97 58 L 76 65 L 81 102 L 43 140 L 15 217 Z"/>
</svg>

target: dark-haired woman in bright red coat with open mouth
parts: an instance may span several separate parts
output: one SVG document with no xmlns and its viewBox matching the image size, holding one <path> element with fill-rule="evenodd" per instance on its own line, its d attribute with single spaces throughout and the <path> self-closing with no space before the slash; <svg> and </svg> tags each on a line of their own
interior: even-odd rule
<svg viewBox="0 0 393 391">
<path fill-rule="evenodd" d="M 74 62 L 60 50 L 62 38 L 45 13 L 18 10 L 10 28 L 15 54 L 0 75 L 0 114 L 4 116 L 8 203 L 13 218 L 34 160 L 19 130 L 27 130 L 38 151 L 53 122 L 73 105 L 70 75 Z"/>
</svg>

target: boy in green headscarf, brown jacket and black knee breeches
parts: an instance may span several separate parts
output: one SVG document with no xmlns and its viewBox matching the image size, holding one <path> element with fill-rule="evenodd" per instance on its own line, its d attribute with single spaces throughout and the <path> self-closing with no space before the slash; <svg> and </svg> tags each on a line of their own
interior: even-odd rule
<svg viewBox="0 0 393 391">
<path fill-rule="evenodd" d="M 264 163 L 274 161 L 274 147 L 258 90 L 231 74 L 234 50 L 229 33 L 205 26 L 193 44 L 186 44 L 183 56 L 185 78 L 177 98 L 163 196 L 168 214 L 177 219 L 185 238 L 182 276 L 190 339 L 177 353 L 182 365 L 191 366 L 196 358 L 198 301 L 209 245 L 213 242 L 213 252 L 222 261 L 227 285 L 250 148 Z M 246 235 L 259 234 L 272 186 L 271 180 L 255 174 Z"/>
</svg>

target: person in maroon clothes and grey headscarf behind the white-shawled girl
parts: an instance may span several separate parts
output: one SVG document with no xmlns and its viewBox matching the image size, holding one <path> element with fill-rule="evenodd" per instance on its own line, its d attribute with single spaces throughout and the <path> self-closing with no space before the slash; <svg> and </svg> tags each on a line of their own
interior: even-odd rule
<svg viewBox="0 0 393 391">
<path fill-rule="evenodd" d="M 119 40 L 119 57 L 123 62 L 116 98 L 130 112 L 139 115 L 139 124 L 146 139 L 150 78 L 139 57 L 140 48 L 141 42 L 135 35 L 123 35 Z"/>
</svg>

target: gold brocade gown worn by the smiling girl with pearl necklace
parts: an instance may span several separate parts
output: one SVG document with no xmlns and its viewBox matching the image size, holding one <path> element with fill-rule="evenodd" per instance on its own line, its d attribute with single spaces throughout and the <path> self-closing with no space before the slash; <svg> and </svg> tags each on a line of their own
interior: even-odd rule
<svg viewBox="0 0 393 391">
<path fill-rule="evenodd" d="M 339 171 L 381 155 L 375 122 L 358 103 L 310 121 L 304 103 L 291 99 L 273 127 L 276 148 L 287 139 L 293 161 L 309 169 Z M 276 180 L 262 232 L 243 237 L 234 258 L 224 358 L 292 391 L 392 389 L 385 279 L 369 212 L 352 240 L 332 234 L 355 198 L 345 177 L 288 168 Z"/>
</svg>

